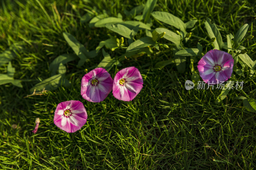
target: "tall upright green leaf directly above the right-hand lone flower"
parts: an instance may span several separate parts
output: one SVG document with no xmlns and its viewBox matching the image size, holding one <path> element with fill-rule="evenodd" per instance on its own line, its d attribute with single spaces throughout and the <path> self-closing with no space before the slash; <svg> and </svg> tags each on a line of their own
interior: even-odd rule
<svg viewBox="0 0 256 170">
<path fill-rule="evenodd" d="M 204 23 L 209 38 L 216 37 L 216 41 L 213 42 L 214 48 L 220 50 L 223 46 L 222 38 L 220 35 L 220 31 L 218 30 L 215 24 L 211 24 L 211 19 L 207 18 L 207 21 Z"/>
</svg>

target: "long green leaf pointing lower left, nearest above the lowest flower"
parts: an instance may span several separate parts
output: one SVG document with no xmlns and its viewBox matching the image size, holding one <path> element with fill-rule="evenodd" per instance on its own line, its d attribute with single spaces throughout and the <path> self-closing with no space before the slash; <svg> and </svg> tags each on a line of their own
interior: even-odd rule
<svg viewBox="0 0 256 170">
<path fill-rule="evenodd" d="M 34 87 L 30 89 L 30 92 L 34 92 L 34 89 L 36 91 L 42 91 L 44 88 L 45 90 L 55 90 L 61 85 L 62 80 L 62 74 L 56 74 L 50 78 L 47 78 L 40 83 L 37 83 Z"/>
</svg>

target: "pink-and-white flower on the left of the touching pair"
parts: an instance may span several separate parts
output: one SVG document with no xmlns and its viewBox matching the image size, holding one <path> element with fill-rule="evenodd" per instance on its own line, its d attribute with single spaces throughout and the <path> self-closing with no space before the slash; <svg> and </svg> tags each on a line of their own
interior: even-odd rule
<svg viewBox="0 0 256 170">
<path fill-rule="evenodd" d="M 107 70 L 96 68 L 85 74 L 81 82 L 81 95 L 87 101 L 101 102 L 111 92 L 113 79 Z"/>
</svg>

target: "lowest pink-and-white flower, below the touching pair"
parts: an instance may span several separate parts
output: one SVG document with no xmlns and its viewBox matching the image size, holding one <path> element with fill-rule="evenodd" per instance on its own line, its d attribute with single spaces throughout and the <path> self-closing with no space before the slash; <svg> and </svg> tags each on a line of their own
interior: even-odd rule
<svg viewBox="0 0 256 170">
<path fill-rule="evenodd" d="M 76 132 L 86 123 L 87 113 L 81 101 L 70 100 L 58 104 L 53 122 L 61 130 L 68 133 Z"/>
</svg>

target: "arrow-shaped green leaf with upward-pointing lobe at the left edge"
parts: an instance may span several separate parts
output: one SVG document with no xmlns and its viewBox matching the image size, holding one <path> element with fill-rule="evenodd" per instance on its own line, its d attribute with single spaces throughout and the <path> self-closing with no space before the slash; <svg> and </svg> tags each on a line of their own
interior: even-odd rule
<svg viewBox="0 0 256 170">
<path fill-rule="evenodd" d="M 12 67 L 11 62 L 9 62 L 7 66 L 7 74 L 0 74 L 0 85 L 4 85 L 7 83 L 12 83 L 15 86 L 22 87 L 20 80 L 15 80 L 13 78 L 15 69 Z"/>
</svg>

